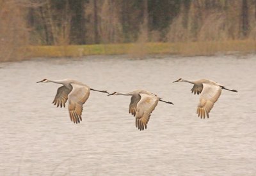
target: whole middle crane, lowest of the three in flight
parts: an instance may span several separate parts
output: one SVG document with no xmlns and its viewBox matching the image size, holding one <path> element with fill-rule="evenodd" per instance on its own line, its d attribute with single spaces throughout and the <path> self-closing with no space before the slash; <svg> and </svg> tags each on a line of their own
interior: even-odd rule
<svg viewBox="0 0 256 176">
<path fill-rule="evenodd" d="M 147 123 L 150 115 L 157 106 L 158 101 L 163 101 L 155 94 L 148 91 L 136 90 L 128 93 L 113 92 L 111 95 L 132 96 L 129 105 L 129 113 L 135 117 L 135 126 L 140 130 L 147 129 Z M 163 101 L 164 103 L 173 104 L 172 102 Z"/>
</svg>

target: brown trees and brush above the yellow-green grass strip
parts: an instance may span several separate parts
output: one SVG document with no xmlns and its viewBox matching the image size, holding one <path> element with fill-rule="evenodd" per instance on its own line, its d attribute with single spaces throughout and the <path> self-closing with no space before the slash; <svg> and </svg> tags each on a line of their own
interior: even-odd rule
<svg viewBox="0 0 256 176">
<path fill-rule="evenodd" d="M 25 45 L 255 38 L 255 0 L 0 0 L 4 55 Z"/>
</svg>

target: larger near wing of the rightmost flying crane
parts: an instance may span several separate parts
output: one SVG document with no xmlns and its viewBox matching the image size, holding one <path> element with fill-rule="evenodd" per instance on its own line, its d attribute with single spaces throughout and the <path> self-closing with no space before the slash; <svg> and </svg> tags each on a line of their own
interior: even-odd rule
<svg viewBox="0 0 256 176">
<path fill-rule="evenodd" d="M 200 94 L 200 102 L 196 112 L 201 119 L 202 117 L 205 119 L 205 115 L 209 118 L 209 112 L 221 94 L 221 87 L 219 85 L 203 83 L 203 87 L 204 89 Z"/>
</svg>

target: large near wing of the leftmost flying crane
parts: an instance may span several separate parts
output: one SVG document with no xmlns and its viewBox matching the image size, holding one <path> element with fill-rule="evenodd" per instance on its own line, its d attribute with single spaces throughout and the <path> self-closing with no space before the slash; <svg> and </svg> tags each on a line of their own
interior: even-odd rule
<svg viewBox="0 0 256 176">
<path fill-rule="evenodd" d="M 74 123 L 82 121 L 83 104 L 90 96 L 90 88 L 84 85 L 71 84 L 73 89 L 68 94 L 68 111 Z"/>
</svg>

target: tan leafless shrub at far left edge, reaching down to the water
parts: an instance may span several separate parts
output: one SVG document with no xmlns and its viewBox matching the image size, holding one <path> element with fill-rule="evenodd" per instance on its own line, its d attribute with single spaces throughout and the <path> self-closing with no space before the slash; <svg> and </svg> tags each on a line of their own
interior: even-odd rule
<svg viewBox="0 0 256 176">
<path fill-rule="evenodd" d="M 17 61 L 26 56 L 28 28 L 22 6 L 0 0 L 0 61 Z"/>
</svg>

